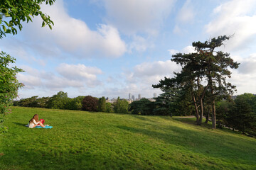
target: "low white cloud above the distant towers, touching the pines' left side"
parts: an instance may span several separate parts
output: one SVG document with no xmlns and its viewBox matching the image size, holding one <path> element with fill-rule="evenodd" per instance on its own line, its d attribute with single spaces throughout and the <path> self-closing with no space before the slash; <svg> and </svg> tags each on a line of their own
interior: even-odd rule
<svg viewBox="0 0 256 170">
<path fill-rule="evenodd" d="M 158 84 L 164 77 L 174 77 L 173 72 L 178 72 L 180 69 L 175 62 L 170 60 L 144 62 L 136 65 L 132 71 L 123 72 L 123 80 L 115 81 L 115 86 L 105 86 L 101 95 L 128 98 L 128 94 L 131 93 L 135 98 L 138 98 L 138 94 L 145 98 L 152 98 L 154 93 L 161 94 L 162 91 L 154 89 L 151 85 Z M 110 78 L 112 81 L 113 77 Z"/>
</svg>

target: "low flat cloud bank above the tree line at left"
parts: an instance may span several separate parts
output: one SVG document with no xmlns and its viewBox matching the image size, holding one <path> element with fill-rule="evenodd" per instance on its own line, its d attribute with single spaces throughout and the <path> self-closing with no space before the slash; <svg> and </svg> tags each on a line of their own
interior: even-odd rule
<svg viewBox="0 0 256 170">
<path fill-rule="evenodd" d="M 61 91 L 65 88 L 94 88 L 101 83 L 97 79 L 98 74 L 102 74 L 96 67 L 86 67 L 83 64 L 60 64 L 56 69 L 58 74 L 33 69 L 28 66 L 22 66 L 25 73 L 17 75 L 18 81 L 25 84 L 25 89 L 49 89 Z"/>
</svg>

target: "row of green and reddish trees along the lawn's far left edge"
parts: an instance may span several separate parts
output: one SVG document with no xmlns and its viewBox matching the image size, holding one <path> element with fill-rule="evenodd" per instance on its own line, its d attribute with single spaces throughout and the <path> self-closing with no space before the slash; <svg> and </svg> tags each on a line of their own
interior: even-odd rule
<svg viewBox="0 0 256 170">
<path fill-rule="evenodd" d="M 38 98 L 38 96 L 32 96 L 31 98 L 22 98 L 19 101 L 14 101 L 14 106 L 106 113 L 128 113 L 129 103 L 119 97 L 114 103 L 107 103 L 104 96 L 101 98 L 92 96 L 69 98 L 68 93 L 59 91 L 51 97 Z"/>
</svg>

